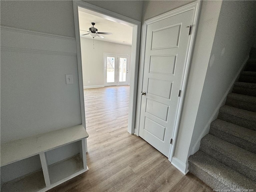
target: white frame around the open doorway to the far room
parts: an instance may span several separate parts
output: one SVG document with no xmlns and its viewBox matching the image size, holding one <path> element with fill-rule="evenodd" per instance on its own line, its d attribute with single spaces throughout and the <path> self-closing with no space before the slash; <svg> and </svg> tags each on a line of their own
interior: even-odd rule
<svg viewBox="0 0 256 192">
<path fill-rule="evenodd" d="M 76 37 L 76 52 L 77 52 L 77 66 L 78 66 L 78 84 L 80 95 L 80 109 L 82 125 L 86 129 L 85 109 L 84 109 L 84 87 L 82 76 L 82 56 L 80 44 L 80 31 L 78 19 L 78 6 L 85 8 L 90 14 L 100 16 L 115 22 L 119 22 L 132 27 L 132 53 L 130 57 L 130 97 L 129 97 L 129 110 L 128 110 L 128 132 L 134 134 L 135 118 L 136 118 L 136 100 L 138 88 L 138 68 L 139 68 L 139 53 L 140 53 L 140 29 L 141 22 L 132 18 L 123 16 L 121 14 L 106 10 L 104 8 L 92 5 L 83 1 L 73 1 L 74 12 L 74 27 Z M 87 144 L 86 144 L 87 151 Z"/>
</svg>

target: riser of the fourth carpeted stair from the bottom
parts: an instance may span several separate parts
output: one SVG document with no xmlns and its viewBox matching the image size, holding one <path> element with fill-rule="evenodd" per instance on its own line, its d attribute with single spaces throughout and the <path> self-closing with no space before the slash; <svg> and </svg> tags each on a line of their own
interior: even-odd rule
<svg viewBox="0 0 256 192">
<path fill-rule="evenodd" d="M 248 129 L 256 130 L 256 121 L 242 119 L 237 116 L 233 116 L 224 112 L 219 112 L 218 118 Z"/>
</svg>

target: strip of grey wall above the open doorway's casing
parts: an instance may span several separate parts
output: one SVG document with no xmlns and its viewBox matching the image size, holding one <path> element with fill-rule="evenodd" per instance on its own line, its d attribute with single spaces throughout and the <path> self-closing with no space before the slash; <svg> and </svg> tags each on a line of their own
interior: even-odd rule
<svg viewBox="0 0 256 192">
<path fill-rule="evenodd" d="M 141 21 L 142 4 L 140 0 L 84 0 L 84 2 L 116 12 L 118 14 Z"/>
</svg>

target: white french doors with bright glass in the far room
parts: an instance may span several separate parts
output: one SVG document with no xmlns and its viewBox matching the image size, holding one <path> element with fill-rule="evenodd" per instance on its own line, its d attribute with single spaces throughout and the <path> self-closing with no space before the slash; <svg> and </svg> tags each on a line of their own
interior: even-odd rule
<svg viewBox="0 0 256 192">
<path fill-rule="evenodd" d="M 104 86 L 128 84 L 129 56 L 104 53 Z"/>
</svg>

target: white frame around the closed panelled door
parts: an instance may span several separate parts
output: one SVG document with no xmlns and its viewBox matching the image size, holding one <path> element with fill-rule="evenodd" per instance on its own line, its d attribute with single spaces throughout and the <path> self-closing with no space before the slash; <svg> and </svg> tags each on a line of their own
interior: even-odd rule
<svg viewBox="0 0 256 192">
<path fill-rule="evenodd" d="M 189 10 L 194 10 L 194 14 L 192 16 L 192 28 L 191 28 L 191 33 L 190 37 L 188 40 L 188 50 L 186 53 L 186 59 L 185 59 L 185 66 L 184 66 L 184 71 L 182 75 L 182 85 L 180 87 L 181 94 L 180 98 L 178 100 L 178 107 L 176 111 L 176 120 L 174 123 L 174 131 L 173 131 L 173 136 L 172 136 L 172 144 L 170 144 L 170 152 L 168 156 L 168 160 L 172 162 L 172 156 L 174 154 L 174 148 L 176 144 L 176 138 L 177 138 L 177 133 L 178 133 L 178 127 L 180 123 L 180 116 L 181 116 L 181 111 L 182 111 L 182 106 L 184 102 L 184 96 L 185 96 L 185 91 L 186 91 L 186 84 L 187 84 L 187 79 L 188 79 L 188 74 L 189 74 L 189 67 L 190 67 L 190 62 L 192 58 L 192 51 L 194 47 L 194 40 L 196 36 L 196 29 L 198 26 L 198 18 L 199 18 L 199 11 L 200 11 L 200 5 L 201 1 L 195 1 L 189 4 L 186 4 L 184 6 L 181 6 L 180 8 L 176 8 L 174 10 L 171 10 L 169 12 L 166 12 L 164 14 L 161 14 L 159 16 L 156 16 L 154 18 L 151 18 L 149 20 L 146 20 L 143 23 L 142 26 L 142 50 L 141 50 L 141 67 L 140 67 L 140 75 L 139 75 L 139 85 L 138 85 L 138 105 L 137 105 L 137 115 L 136 115 L 136 129 L 135 129 L 135 134 L 139 134 L 139 125 L 140 125 L 140 111 L 141 111 L 141 101 L 142 101 L 142 84 L 143 84 L 143 74 L 144 74 L 144 59 L 145 59 L 145 50 L 146 50 L 146 33 L 147 33 L 147 26 L 149 24 L 152 24 L 154 22 L 158 22 L 160 20 L 175 16 L 177 14 L 181 14 L 183 12 L 189 11 Z"/>
</svg>

